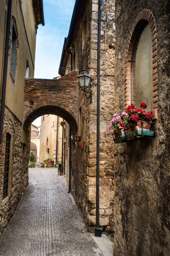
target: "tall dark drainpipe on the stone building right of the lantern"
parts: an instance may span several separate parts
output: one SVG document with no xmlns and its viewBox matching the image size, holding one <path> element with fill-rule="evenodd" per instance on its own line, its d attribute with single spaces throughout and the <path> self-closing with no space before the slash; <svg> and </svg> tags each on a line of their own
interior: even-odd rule
<svg viewBox="0 0 170 256">
<path fill-rule="evenodd" d="M 100 38 L 101 38 L 102 0 L 99 0 L 97 35 L 97 155 L 96 155 L 96 227 L 95 236 L 102 236 L 99 227 L 99 157 L 100 157 Z"/>
</svg>

